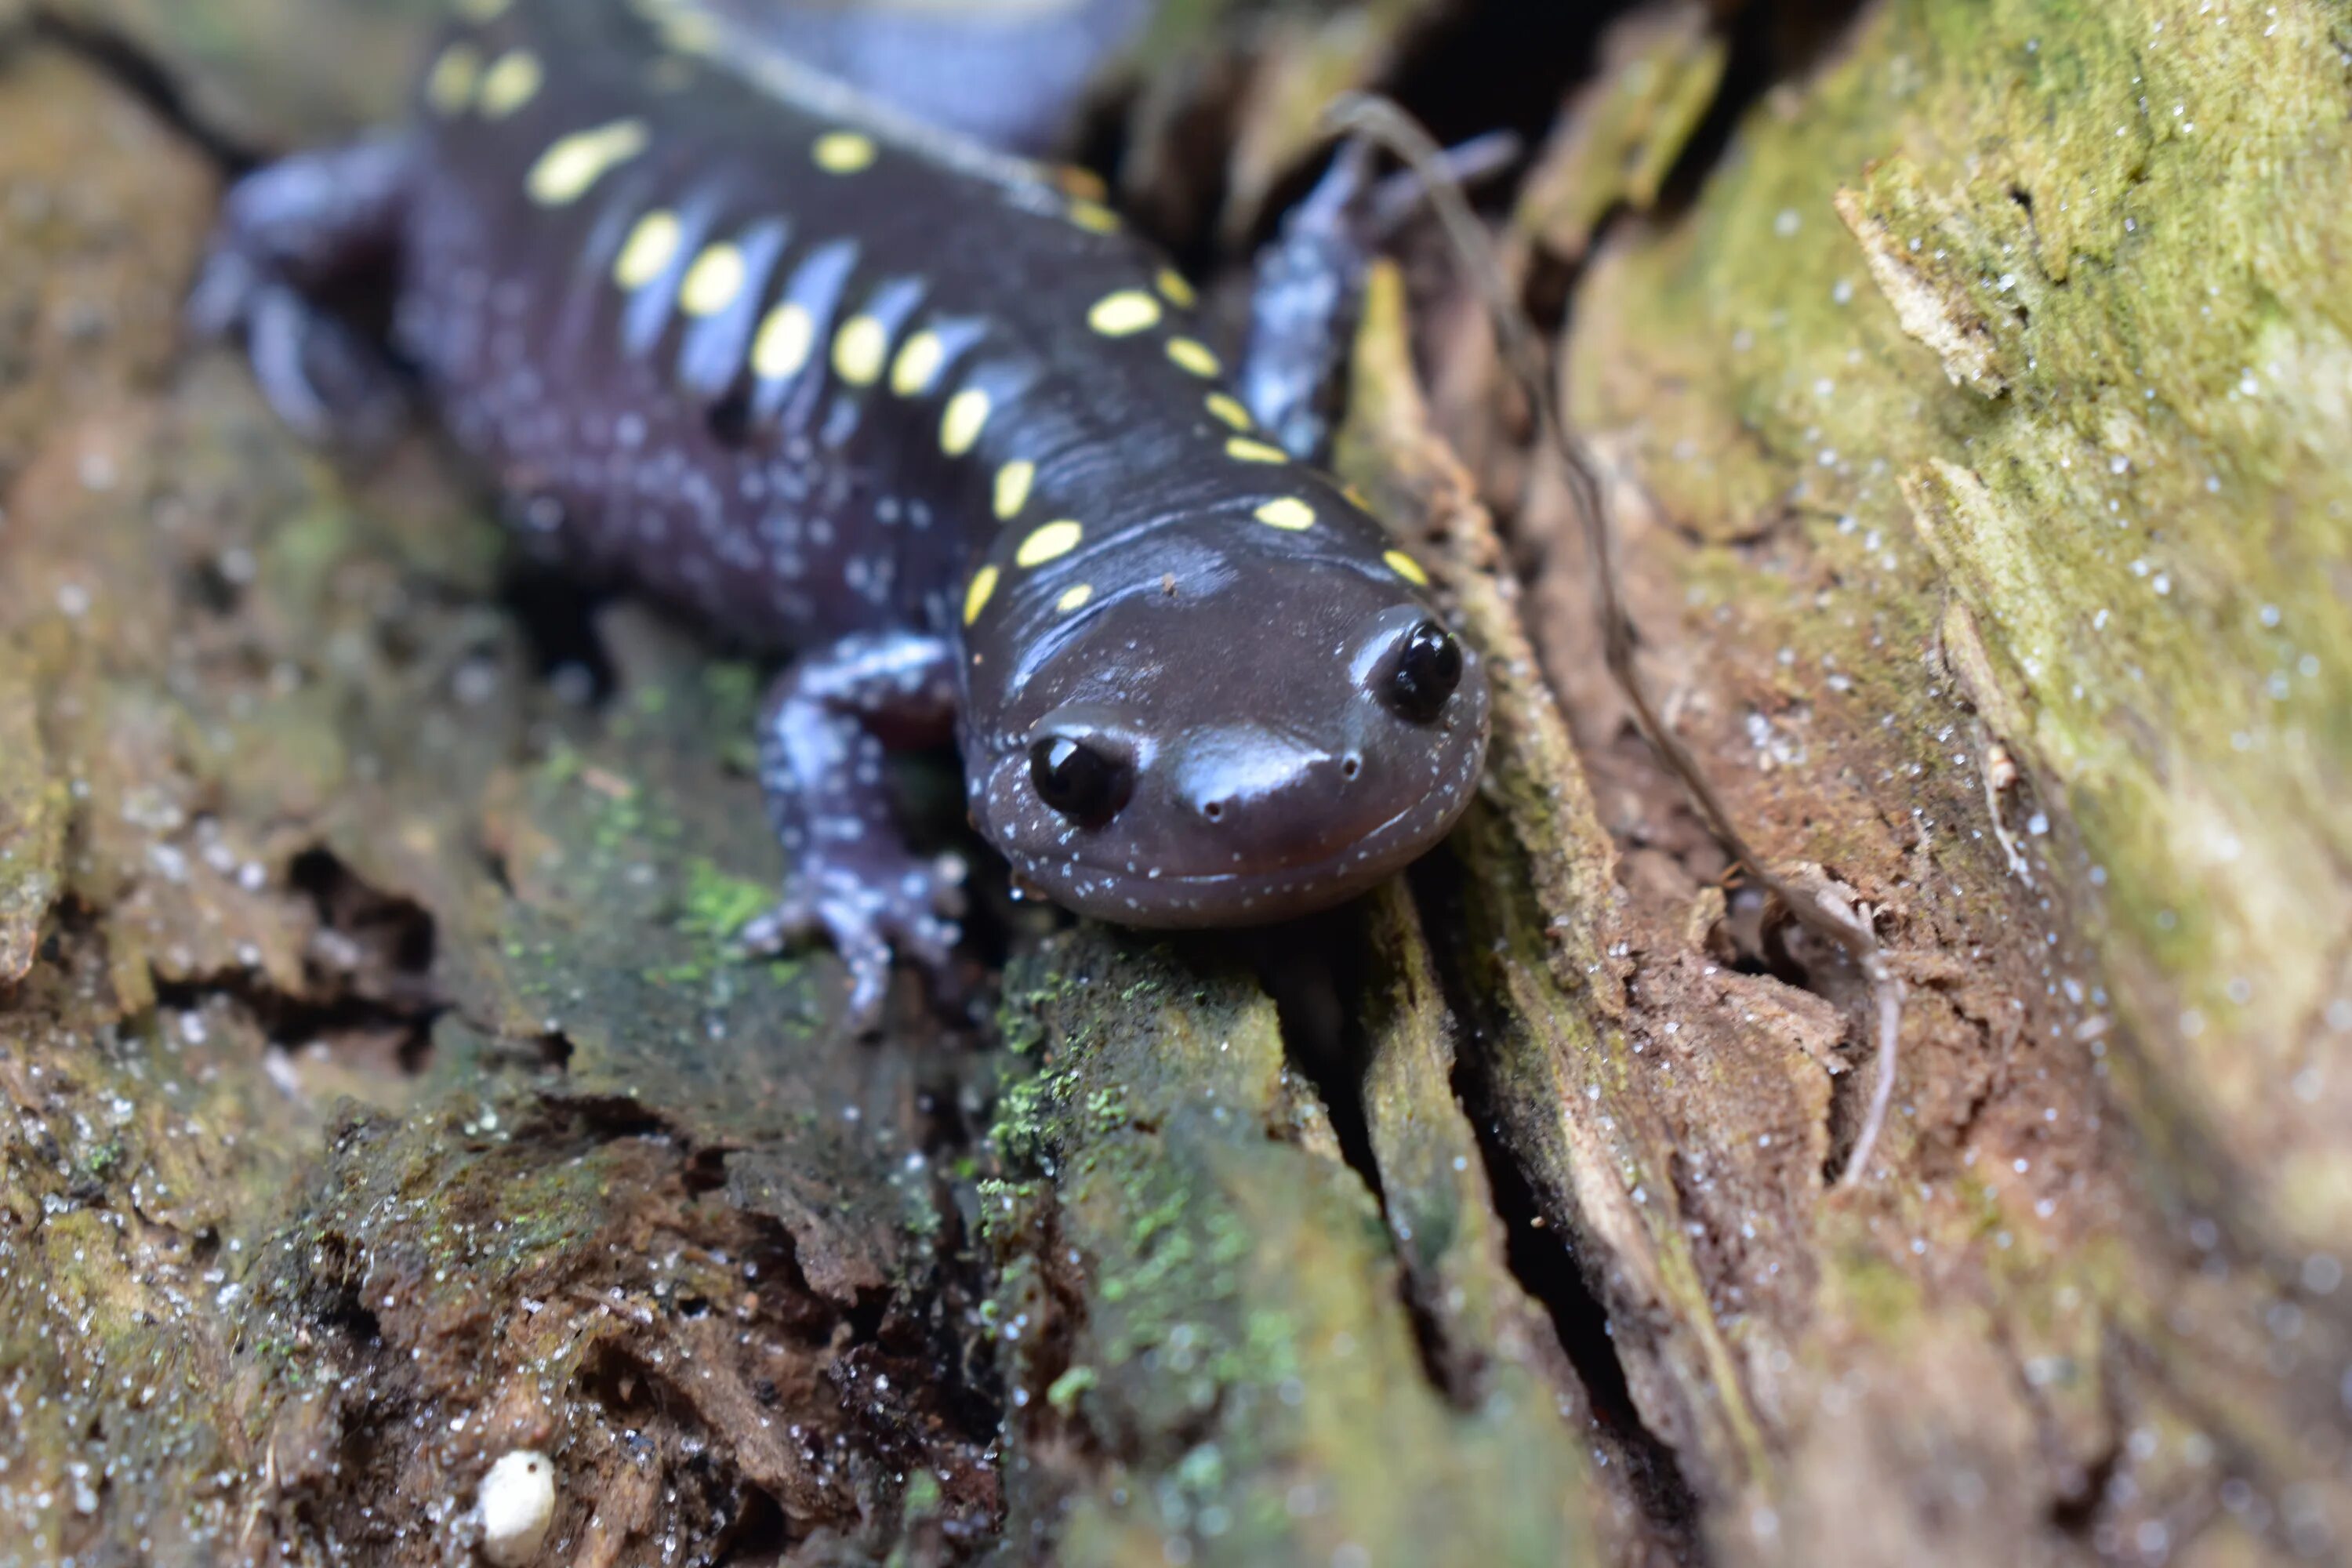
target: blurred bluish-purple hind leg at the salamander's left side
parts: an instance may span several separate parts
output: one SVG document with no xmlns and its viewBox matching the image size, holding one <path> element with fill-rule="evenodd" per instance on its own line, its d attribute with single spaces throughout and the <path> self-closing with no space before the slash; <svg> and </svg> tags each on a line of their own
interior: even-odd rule
<svg viewBox="0 0 2352 1568">
<path fill-rule="evenodd" d="M 402 139 L 296 153 L 221 205 L 188 324 L 242 336 L 261 395 L 306 440 L 369 442 L 400 416 L 383 348 L 322 301 L 395 259 L 412 160 Z"/>
</svg>

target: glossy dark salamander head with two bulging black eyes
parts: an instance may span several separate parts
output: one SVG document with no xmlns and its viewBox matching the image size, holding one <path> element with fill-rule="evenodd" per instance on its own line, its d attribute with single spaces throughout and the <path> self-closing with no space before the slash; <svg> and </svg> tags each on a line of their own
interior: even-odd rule
<svg viewBox="0 0 2352 1568">
<path fill-rule="evenodd" d="M 1244 926 L 1341 903 L 1446 835 L 1486 672 L 1392 571 L 1138 583 L 1056 628 L 967 736 L 971 816 L 1056 903 Z"/>
</svg>

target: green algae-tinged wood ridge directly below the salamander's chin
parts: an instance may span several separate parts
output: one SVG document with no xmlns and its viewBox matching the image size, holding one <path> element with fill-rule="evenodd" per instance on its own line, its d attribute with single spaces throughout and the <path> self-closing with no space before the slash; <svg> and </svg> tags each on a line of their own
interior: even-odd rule
<svg viewBox="0 0 2352 1568">
<path fill-rule="evenodd" d="M 1044 1178 L 990 1194 L 1011 1537 L 1058 1507 L 1075 1561 L 1590 1561 L 1550 1389 L 1430 1380 L 1381 1211 L 1230 959 L 1087 929 L 1016 961 L 1007 1011 L 1040 1070 L 997 1145 Z"/>
</svg>

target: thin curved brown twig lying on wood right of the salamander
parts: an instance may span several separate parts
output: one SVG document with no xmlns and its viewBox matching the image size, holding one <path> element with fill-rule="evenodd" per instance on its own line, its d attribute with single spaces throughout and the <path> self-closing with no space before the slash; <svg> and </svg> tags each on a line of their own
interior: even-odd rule
<svg viewBox="0 0 2352 1568">
<path fill-rule="evenodd" d="M 1470 282 L 1486 306 L 1486 317 L 1512 378 L 1519 383 L 1519 390 L 1536 409 L 1545 435 L 1566 463 L 1569 491 L 1576 498 L 1578 520 L 1585 529 L 1585 548 L 1592 552 L 1592 597 L 1602 621 L 1602 658 L 1609 665 L 1609 675 L 1625 693 L 1625 701 L 1632 705 L 1642 736 L 1649 738 L 1665 766 L 1682 780 L 1684 792 L 1689 792 L 1691 804 L 1698 809 L 1698 816 L 1708 823 L 1715 839 L 1748 867 L 1748 875 L 1755 877 L 1766 893 L 1780 900 L 1780 907 L 1785 907 L 1797 924 L 1842 947 L 1846 957 L 1853 959 L 1856 969 L 1860 969 L 1870 980 L 1879 1023 L 1879 1074 L 1870 1093 L 1870 1110 L 1863 1117 L 1863 1128 L 1853 1140 L 1853 1157 L 1837 1178 L 1839 1187 L 1860 1185 L 1863 1173 L 1870 1166 L 1870 1157 L 1877 1150 L 1879 1133 L 1886 1126 L 1886 1107 L 1893 1103 L 1896 1063 L 1903 1034 L 1903 985 L 1886 964 L 1886 950 L 1879 947 L 1879 940 L 1863 914 L 1828 896 L 1799 896 L 1797 889 L 1764 865 L 1762 856 L 1757 856 L 1757 851 L 1748 844 L 1748 837 L 1738 830 L 1738 825 L 1733 825 L 1731 811 L 1715 792 L 1715 785 L 1710 785 L 1705 773 L 1700 773 L 1698 759 L 1691 757 L 1682 738 L 1675 736 L 1658 717 L 1658 708 L 1651 703 L 1639 670 L 1635 670 L 1635 644 L 1639 642 L 1639 635 L 1632 623 L 1632 614 L 1625 609 L 1625 590 L 1618 581 L 1616 562 L 1616 529 L 1609 517 L 1606 491 L 1602 489 L 1592 454 L 1585 449 L 1576 430 L 1569 428 L 1566 416 L 1559 411 L 1559 402 L 1552 397 L 1543 343 L 1538 341 L 1526 315 L 1519 310 L 1510 280 L 1503 275 L 1494 244 L 1486 240 L 1486 228 L 1477 221 L 1477 214 L 1470 212 L 1470 202 L 1463 197 L 1461 186 L 1446 167 L 1444 150 L 1411 115 L 1392 101 L 1374 94 L 1341 96 L 1329 110 L 1324 110 L 1324 127 L 1334 134 L 1362 136 L 1388 148 L 1406 167 L 1411 167 L 1428 188 L 1430 209 L 1437 214 L 1454 254 L 1470 270 Z"/>
</svg>

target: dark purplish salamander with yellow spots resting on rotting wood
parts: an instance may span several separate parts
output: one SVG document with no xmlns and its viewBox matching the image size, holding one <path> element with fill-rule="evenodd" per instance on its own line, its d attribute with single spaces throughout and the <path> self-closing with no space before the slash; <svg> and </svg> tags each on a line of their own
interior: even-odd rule
<svg viewBox="0 0 2352 1568">
<path fill-rule="evenodd" d="M 327 308 L 355 277 L 383 346 Z M 522 529 L 797 651 L 750 936 L 828 933 L 861 1018 L 960 917 L 884 745 L 955 733 L 978 832 L 1131 926 L 1338 903 L 1479 776 L 1484 672 L 1421 564 L 1098 190 L 691 0 L 456 0 L 409 125 L 230 190 L 191 310 L 313 433 L 383 407 L 390 348 Z"/>
</svg>

